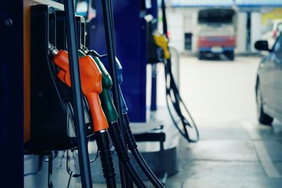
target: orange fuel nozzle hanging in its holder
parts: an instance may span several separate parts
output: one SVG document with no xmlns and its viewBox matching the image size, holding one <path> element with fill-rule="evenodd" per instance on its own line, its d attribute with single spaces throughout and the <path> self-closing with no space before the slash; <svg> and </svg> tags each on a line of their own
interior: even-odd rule
<svg viewBox="0 0 282 188">
<path fill-rule="evenodd" d="M 49 51 L 54 56 L 54 63 L 61 68 L 59 79 L 71 87 L 71 75 L 68 63 L 68 52 L 58 51 L 49 45 Z M 90 106 L 94 132 L 106 130 L 109 125 L 102 110 L 99 94 L 102 92 L 102 73 L 91 56 L 79 58 L 80 82 L 82 93 L 86 96 Z"/>
</svg>

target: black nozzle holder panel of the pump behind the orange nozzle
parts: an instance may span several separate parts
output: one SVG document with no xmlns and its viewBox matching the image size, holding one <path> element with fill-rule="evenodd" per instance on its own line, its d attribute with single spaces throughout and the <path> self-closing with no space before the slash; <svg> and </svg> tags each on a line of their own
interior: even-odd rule
<svg viewBox="0 0 282 188">
<path fill-rule="evenodd" d="M 74 119 L 75 101 L 78 100 L 78 97 L 73 95 L 72 89 L 56 77 L 59 69 L 49 58 L 49 42 L 53 44 L 59 42 L 58 45 L 66 49 L 66 25 L 62 25 L 62 28 L 56 30 L 56 27 L 59 26 L 57 18 L 62 18 L 59 16 L 60 13 L 63 12 L 52 6 L 36 5 L 31 7 L 31 137 L 25 142 L 25 154 L 34 153 L 49 156 L 48 187 L 54 187 L 52 168 L 56 153 L 77 149 L 80 142 L 84 142 L 86 137 L 94 134 L 85 102 L 82 103 L 83 118 L 85 119 L 82 130 L 86 131 L 86 134 L 78 131 L 80 127 Z M 64 37 L 56 37 L 61 35 L 59 34 L 60 30 Z M 61 39 L 61 41 L 57 39 Z M 78 118 L 76 119 L 78 120 Z M 81 153 L 82 149 L 80 146 L 78 153 Z M 80 155 L 80 159 L 82 158 Z M 87 156 L 83 160 L 89 161 Z M 80 170 L 83 175 L 82 180 L 87 179 L 87 175 L 85 175 L 87 173 L 83 173 L 82 163 L 80 163 Z M 75 175 L 72 173 L 71 176 Z M 91 182 L 91 180 L 87 182 Z"/>
</svg>

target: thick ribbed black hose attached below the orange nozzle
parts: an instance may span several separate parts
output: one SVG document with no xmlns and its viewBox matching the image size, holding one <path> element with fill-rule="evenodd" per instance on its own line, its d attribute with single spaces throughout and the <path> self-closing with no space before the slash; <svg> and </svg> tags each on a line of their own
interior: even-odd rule
<svg viewBox="0 0 282 188">
<path fill-rule="evenodd" d="M 110 151 L 108 132 L 102 130 L 95 134 L 98 150 L 100 153 L 102 170 L 106 179 L 106 187 L 116 188 L 116 172 L 114 169 L 113 156 Z"/>
</svg>

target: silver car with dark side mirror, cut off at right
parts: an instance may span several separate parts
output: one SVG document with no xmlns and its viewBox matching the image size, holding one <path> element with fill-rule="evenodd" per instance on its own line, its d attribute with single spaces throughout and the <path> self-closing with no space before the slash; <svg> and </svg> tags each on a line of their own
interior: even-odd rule
<svg viewBox="0 0 282 188">
<path fill-rule="evenodd" d="M 271 125 L 274 118 L 282 121 L 282 35 L 269 49 L 267 41 L 257 41 L 255 48 L 269 51 L 257 71 L 257 115 L 259 123 Z"/>
</svg>

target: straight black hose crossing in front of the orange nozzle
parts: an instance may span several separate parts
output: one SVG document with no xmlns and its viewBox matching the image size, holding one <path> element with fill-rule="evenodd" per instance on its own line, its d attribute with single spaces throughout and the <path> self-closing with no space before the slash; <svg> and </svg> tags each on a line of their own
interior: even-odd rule
<svg viewBox="0 0 282 188">
<path fill-rule="evenodd" d="M 92 188 L 92 178 L 85 134 L 85 120 L 82 106 L 80 86 L 80 70 L 78 65 L 78 44 L 76 44 L 75 11 L 73 0 L 65 0 L 66 31 L 68 39 L 68 58 L 71 71 L 71 89 L 73 93 L 73 111 L 75 114 L 76 136 L 78 140 L 78 158 L 80 163 L 82 188 Z"/>
</svg>

